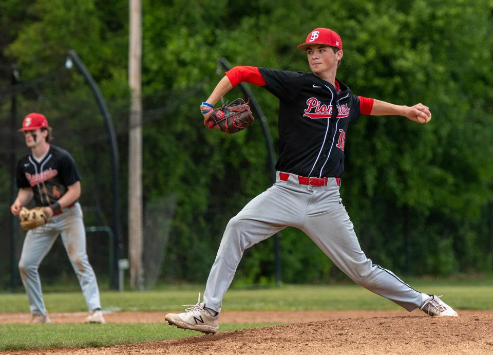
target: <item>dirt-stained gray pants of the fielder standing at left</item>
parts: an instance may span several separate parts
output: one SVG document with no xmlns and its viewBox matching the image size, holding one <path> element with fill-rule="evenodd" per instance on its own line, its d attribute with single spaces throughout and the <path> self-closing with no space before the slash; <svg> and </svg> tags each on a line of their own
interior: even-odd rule
<svg viewBox="0 0 493 355">
<path fill-rule="evenodd" d="M 63 213 L 53 216 L 50 223 L 32 229 L 26 234 L 19 261 L 19 271 L 26 289 L 31 314 L 46 313 L 40 274 L 37 269 L 59 234 L 62 236 L 63 245 L 73 270 L 79 278 L 88 310 L 101 308 L 96 275 L 94 275 L 86 253 L 86 231 L 81 205 L 77 202 L 73 208 L 63 209 Z"/>
</svg>

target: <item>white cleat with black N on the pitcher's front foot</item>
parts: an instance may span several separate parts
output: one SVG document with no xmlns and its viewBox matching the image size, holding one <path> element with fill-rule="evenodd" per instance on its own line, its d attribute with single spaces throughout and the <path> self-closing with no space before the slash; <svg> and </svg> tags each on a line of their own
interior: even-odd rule
<svg viewBox="0 0 493 355">
<path fill-rule="evenodd" d="M 186 308 L 183 313 L 168 313 L 164 319 L 169 325 L 176 325 L 181 329 L 191 329 L 201 331 L 206 334 L 214 334 L 219 329 L 219 313 L 215 316 L 211 315 L 204 309 L 205 304 L 199 300 L 196 305 L 183 305 Z"/>
</svg>

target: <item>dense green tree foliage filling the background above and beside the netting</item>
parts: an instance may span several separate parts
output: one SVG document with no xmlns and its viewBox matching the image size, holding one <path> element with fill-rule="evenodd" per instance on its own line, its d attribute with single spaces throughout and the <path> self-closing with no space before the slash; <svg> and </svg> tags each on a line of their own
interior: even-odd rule
<svg viewBox="0 0 493 355">
<path fill-rule="evenodd" d="M 491 0 L 142 3 L 144 203 L 176 198 L 166 279 L 205 282 L 229 218 L 271 183 L 259 124 L 224 136 L 203 128 L 198 109 L 197 115 L 189 114 L 221 78 L 218 58 L 233 65 L 308 70 L 295 46 L 315 27 L 330 27 L 342 36 L 344 58 L 337 77 L 356 95 L 396 104 L 423 102 L 433 114 L 427 125 L 363 116 L 350 126 L 341 193 L 367 255 L 396 273 L 493 270 Z M 23 80 L 58 68 L 69 48 L 91 70 L 116 118 L 125 200 L 125 2 L 7 0 L 0 3 L 0 13 L 0 60 L 16 62 Z M 2 72 L 4 87 L 9 79 L 3 66 Z M 41 107 L 52 116 L 68 117 L 78 105 L 93 105 L 77 102 L 83 97 L 80 83 L 80 78 L 70 79 L 63 102 L 55 100 L 60 90 L 46 87 L 44 102 L 50 104 Z M 251 89 L 277 142 L 277 99 L 262 88 Z M 228 99 L 241 95 L 235 89 Z M 0 104 L 0 120 L 8 122 L 8 101 Z M 86 135 L 100 129 L 86 124 Z M 81 165 L 97 159 L 91 149 L 82 144 L 75 152 Z M 109 191 L 109 172 L 98 174 L 98 191 Z M 5 167 L 0 177 L 8 180 Z M 8 188 L 2 186 L 3 196 Z M 9 203 L 3 200 L 0 215 L 7 223 Z M 248 250 L 237 280 L 270 282 L 272 248 L 268 240 Z M 341 277 L 295 229 L 283 231 L 282 263 L 286 282 Z"/>
</svg>

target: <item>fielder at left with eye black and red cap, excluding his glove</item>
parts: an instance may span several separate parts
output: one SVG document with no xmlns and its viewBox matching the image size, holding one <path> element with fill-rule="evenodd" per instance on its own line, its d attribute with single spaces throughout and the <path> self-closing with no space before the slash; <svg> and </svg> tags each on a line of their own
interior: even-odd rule
<svg viewBox="0 0 493 355">
<path fill-rule="evenodd" d="M 77 274 L 89 314 L 87 323 L 104 323 L 98 283 L 86 253 L 86 233 L 78 199 L 80 175 L 70 154 L 49 143 L 51 127 L 44 115 L 31 113 L 22 128 L 31 153 L 17 164 L 17 198 L 11 211 L 18 216 L 32 199 L 52 216 L 43 226 L 29 230 L 24 239 L 19 271 L 26 289 L 32 323 L 49 323 L 43 302 L 38 268 L 60 234 L 70 263 Z"/>
</svg>

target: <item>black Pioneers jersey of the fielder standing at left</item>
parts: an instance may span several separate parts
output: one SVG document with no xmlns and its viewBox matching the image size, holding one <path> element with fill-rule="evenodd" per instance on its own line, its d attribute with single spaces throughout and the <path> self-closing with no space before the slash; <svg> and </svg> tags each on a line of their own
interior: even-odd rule
<svg viewBox="0 0 493 355">
<path fill-rule="evenodd" d="M 49 206 L 67 192 L 67 186 L 80 181 L 81 177 L 70 154 L 55 145 L 45 158 L 37 162 L 32 153 L 17 164 L 17 187 L 32 188 L 36 206 Z"/>
</svg>

